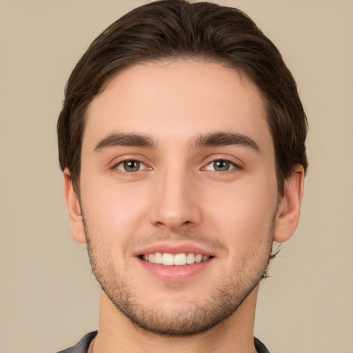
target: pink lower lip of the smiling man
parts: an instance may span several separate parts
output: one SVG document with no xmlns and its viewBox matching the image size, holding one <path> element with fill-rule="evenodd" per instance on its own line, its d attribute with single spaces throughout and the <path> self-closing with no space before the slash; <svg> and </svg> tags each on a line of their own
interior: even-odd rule
<svg viewBox="0 0 353 353">
<path fill-rule="evenodd" d="M 192 265 L 168 266 L 139 259 L 139 262 L 145 270 L 157 276 L 162 281 L 171 282 L 180 282 L 190 279 L 192 276 L 203 272 L 213 261 L 214 258 L 212 257 L 200 263 L 192 263 Z"/>
</svg>

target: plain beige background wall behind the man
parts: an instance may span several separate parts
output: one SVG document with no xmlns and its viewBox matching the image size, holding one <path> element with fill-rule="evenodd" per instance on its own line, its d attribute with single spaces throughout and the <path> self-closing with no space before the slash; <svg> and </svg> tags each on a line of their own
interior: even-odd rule
<svg viewBox="0 0 353 353">
<path fill-rule="evenodd" d="M 57 162 L 63 88 L 85 48 L 145 1 L 0 0 L 0 352 L 49 353 L 97 327 L 99 288 L 74 243 Z M 261 286 L 271 352 L 353 352 L 353 1 L 229 0 L 280 48 L 310 120 L 295 236 Z"/>
</svg>

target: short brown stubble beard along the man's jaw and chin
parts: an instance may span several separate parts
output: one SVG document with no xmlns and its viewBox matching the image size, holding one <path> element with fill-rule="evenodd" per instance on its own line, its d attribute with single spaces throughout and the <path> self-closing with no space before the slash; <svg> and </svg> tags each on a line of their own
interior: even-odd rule
<svg viewBox="0 0 353 353">
<path fill-rule="evenodd" d="M 117 273 L 108 252 L 93 241 L 85 221 L 83 224 L 92 272 L 117 310 L 148 332 L 163 336 L 192 336 L 228 319 L 259 284 L 271 259 L 275 218 L 276 214 L 272 217 L 268 239 L 261 243 L 261 249 L 246 254 L 232 276 L 220 274 L 219 281 L 212 285 L 208 299 L 203 303 L 192 303 L 192 307 L 174 305 L 168 307 L 168 311 L 141 303 L 140 295 L 143 293 L 133 290 L 132 285 Z"/>
</svg>

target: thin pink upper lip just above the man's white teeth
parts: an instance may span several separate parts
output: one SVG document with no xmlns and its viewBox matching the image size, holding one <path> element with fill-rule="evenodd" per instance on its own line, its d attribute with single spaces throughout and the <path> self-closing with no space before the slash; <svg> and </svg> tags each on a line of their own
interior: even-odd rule
<svg viewBox="0 0 353 353">
<path fill-rule="evenodd" d="M 134 256 L 141 256 L 145 254 L 154 254 L 154 252 L 168 253 L 168 254 L 190 254 L 193 252 L 194 254 L 202 254 L 208 256 L 215 256 L 212 250 L 207 247 L 194 243 L 153 243 L 151 245 L 147 245 L 144 248 L 137 250 L 134 253 Z"/>
</svg>

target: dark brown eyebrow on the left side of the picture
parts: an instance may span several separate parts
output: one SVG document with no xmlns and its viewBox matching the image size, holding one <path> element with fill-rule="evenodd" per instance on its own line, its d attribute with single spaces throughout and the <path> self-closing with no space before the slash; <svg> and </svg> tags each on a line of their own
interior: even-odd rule
<svg viewBox="0 0 353 353">
<path fill-rule="evenodd" d="M 105 148 L 114 146 L 156 148 L 154 141 L 143 134 L 110 134 L 99 141 L 94 152 L 101 152 Z"/>
</svg>

